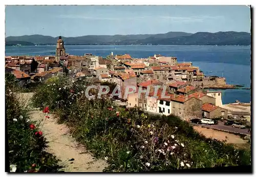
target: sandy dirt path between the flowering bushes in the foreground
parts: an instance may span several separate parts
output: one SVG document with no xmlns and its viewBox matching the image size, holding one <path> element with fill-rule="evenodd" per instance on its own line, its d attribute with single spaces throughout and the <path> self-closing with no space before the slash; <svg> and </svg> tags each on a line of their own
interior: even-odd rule
<svg viewBox="0 0 256 177">
<path fill-rule="evenodd" d="M 26 99 L 28 104 L 29 98 L 32 93 L 24 93 L 21 95 L 23 100 Z M 57 120 L 53 118 L 53 115 L 49 115 L 50 118 L 46 119 L 45 114 L 40 110 L 32 110 L 31 118 L 40 122 L 39 128 L 43 132 L 43 135 L 49 142 L 48 152 L 53 153 L 57 158 L 61 160 L 60 165 L 65 165 L 65 172 L 101 172 L 107 163 L 103 160 L 94 160 L 92 155 L 87 152 L 86 148 L 81 147 L 71 137 L 69 128 L 64 124 L 58 124 Z M 73 161 L 69 161 L 74 159 Z"/>
</svg>

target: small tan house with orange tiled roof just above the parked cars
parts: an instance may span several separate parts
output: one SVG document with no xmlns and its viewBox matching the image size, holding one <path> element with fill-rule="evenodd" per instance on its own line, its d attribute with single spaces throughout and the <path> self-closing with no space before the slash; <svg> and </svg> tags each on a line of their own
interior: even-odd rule
<svg viewBox="0 0 256 177">
<path fill-rule="evenodd" d="M 217 118 L 217 117 L 223 117 L 227 118 L 227 109 L 224 109 L 222 107 L 210 104 L 210 103 L 204 103 L 202 105 L 203 110 L 203 116 L 207 119 Z"/>
</svg>

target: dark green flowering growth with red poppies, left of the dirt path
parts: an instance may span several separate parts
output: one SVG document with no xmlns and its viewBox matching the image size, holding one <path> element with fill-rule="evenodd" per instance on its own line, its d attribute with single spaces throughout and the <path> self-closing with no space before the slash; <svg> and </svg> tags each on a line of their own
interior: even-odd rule
<svg viewBox="0 0 256 177">
<path fill-rule="evenodd" d="M 47 147 L 43 132 L 31 121 L 28 109 L 18 102 L 17 87 L 6 77 L 6 122 L 8 136 L 8 159 L 10 172 L 56 172 L 60 166 Z M 10 169 L 8 170 L 8 167 Z"/>
</svg>

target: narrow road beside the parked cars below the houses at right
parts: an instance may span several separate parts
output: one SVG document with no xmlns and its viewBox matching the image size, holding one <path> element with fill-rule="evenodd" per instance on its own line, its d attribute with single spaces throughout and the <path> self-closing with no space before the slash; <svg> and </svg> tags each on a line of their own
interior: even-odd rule
<svg viewBox="0 0 256 177">
<path fill-rule="evenodd" d="M 202 127 L 216 128 L 216 129 L 220 129 L 220 130 L 236 132 L 236 133 L 239 133 L 239 134 L 250 135 L 250 133 L 248 132 L 248 128 L 245 128 L 245 129 L 235 128 L 235 127 L 232 127 L 232 125 L 224 125 L 224 122 L 221 122 L 221 121 L 219 121 L 218 125 L 207 125 L 207 124 L 196 124 L 196 123 L 191 123 L 191 124 L 192 125 L 197 125 L 197 126 L 202 126 Z"/>
</svg>

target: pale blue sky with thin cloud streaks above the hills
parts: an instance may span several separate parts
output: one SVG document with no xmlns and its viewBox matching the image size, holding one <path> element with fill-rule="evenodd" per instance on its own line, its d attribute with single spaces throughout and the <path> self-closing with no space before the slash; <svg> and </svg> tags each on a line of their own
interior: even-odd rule
<svg viewBox="0 0 256 177">
<path fill-rule="evenodd" d="M 246 6 L 6 6 L 6 36 L 250 32 Z"/>
</svg>

